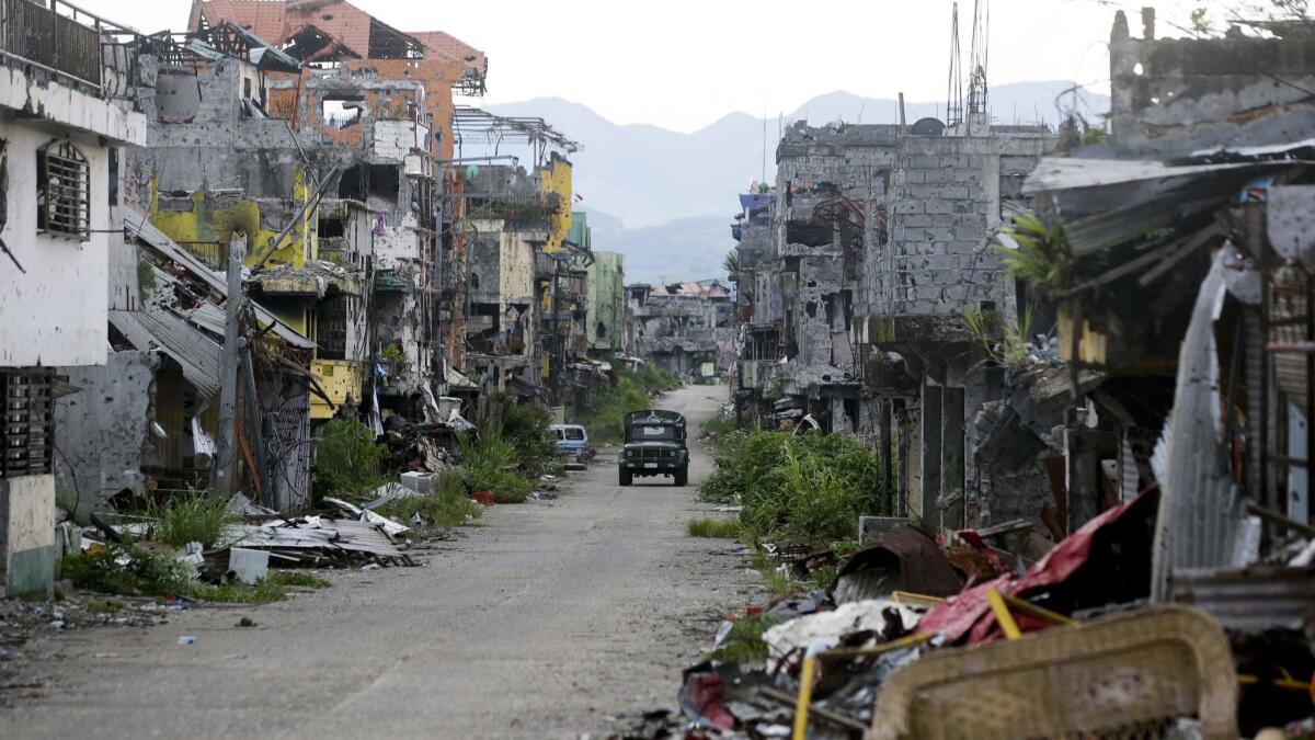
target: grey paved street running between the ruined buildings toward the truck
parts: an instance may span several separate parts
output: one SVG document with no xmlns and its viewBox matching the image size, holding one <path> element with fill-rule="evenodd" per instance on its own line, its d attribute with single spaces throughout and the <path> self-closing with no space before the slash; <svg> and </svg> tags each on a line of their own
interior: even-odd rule
<svg viewBox="0 0 1315 740">
<path fill-rule="evenodd" d="M 663 406 L 693 437 L 722 399 L 692 387 Z M 671 706 L 718 615 L 763 602 L 731 545 L 685 536 L 710 467 L 698 446 L 690 487 L 621 489 L 609 450 L 562 498 L 494 507 L 426 568 L 46 640 L 62 656 L 33 669 L 49 695 L 0 710 L 0 736 L 577 737 Z"/>
</svg>

